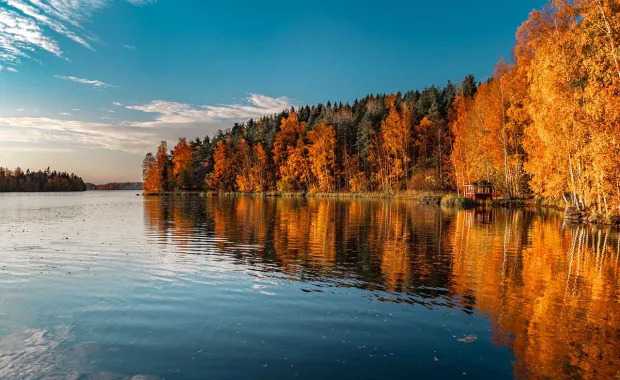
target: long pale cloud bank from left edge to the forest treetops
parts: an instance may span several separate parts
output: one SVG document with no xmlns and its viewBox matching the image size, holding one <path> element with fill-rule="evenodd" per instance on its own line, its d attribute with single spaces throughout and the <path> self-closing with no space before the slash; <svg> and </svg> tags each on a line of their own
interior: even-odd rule
<svg viewBox="0 0 620 380">
<path fill-rule="evenodd" d="M 112 114 L 98 122 L 67 120 L 67 117 L 0 117 L 0 141 L 42 146 L 67 146 L 145 154 L 161 140 L 175 141 L 179 136 L 193 138 L 212 135 L 217 129 L 232 126 L 233 121 L 259 118 L 289 108 L 286 97 L 270 98 L 251 94 L 242 104 L 192 107 L 183 103 L 154 101 L 144 106 L 127 107 L 151 121 L 116 121 Z M 149 115 L 151 114 L 151 115 Z"/>
</svg>

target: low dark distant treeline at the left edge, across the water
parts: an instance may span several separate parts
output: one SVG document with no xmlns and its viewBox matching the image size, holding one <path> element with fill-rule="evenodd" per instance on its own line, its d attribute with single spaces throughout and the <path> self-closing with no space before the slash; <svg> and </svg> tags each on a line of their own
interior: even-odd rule
<svg viewBox="0 0 620 380">
<path fill-rule="evenodd" d="M 0 167 L 0 192 L 46 192 L 86 191 L 82 178 L 67 172 L 45 171 L 25 172 L 20 168 L 9 170 Z"/>
</svg>

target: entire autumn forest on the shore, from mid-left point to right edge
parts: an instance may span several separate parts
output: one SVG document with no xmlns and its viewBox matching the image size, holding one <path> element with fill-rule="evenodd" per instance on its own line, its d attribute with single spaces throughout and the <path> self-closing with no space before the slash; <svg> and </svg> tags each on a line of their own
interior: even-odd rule
<svg viewBox="0 0 620 380">
<path fill-rule="evenodd" d="M 144 190 L 397 192 L 491 182 L 504 196 L 620 215 L 620 4 L 552 0 L 477 82 L 327 102 L 162 143 Z"/>
</svg>

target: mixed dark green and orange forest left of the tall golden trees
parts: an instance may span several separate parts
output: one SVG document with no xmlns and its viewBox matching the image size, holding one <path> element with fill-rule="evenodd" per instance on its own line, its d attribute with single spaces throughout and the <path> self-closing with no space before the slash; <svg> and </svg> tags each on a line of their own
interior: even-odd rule
<svg viewBox="0 0 620 380">
<path fill-rule="evenodd" d="M 468 76 L 461 92 L 473 96 Z M 448 82 L 422 92 L 327 102 L 235 123 L 213 137 L 162 141 L 143 161 L 145 192 L 363 192 L 450 186 Z"/>
</svg>

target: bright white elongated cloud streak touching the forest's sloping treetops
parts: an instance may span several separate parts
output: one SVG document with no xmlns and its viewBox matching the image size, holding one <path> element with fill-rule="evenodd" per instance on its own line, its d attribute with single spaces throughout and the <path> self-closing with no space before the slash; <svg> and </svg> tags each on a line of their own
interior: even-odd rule
<svg viewBox="0 0 620 380">
<path fill-rule="evenodd" d="M 210 123 L 246 120 L 281 112 L 292 105 L 286 97 L 271 98 L 250 94 L 245 104 L 192 106 L 185 103 L 154 100 L 145 105 L 127 106 L 128 109 L 158 114 L 154 121 L 135 122 L 134 126 L 153 127 L 163 124 Z"/>
</svg>

